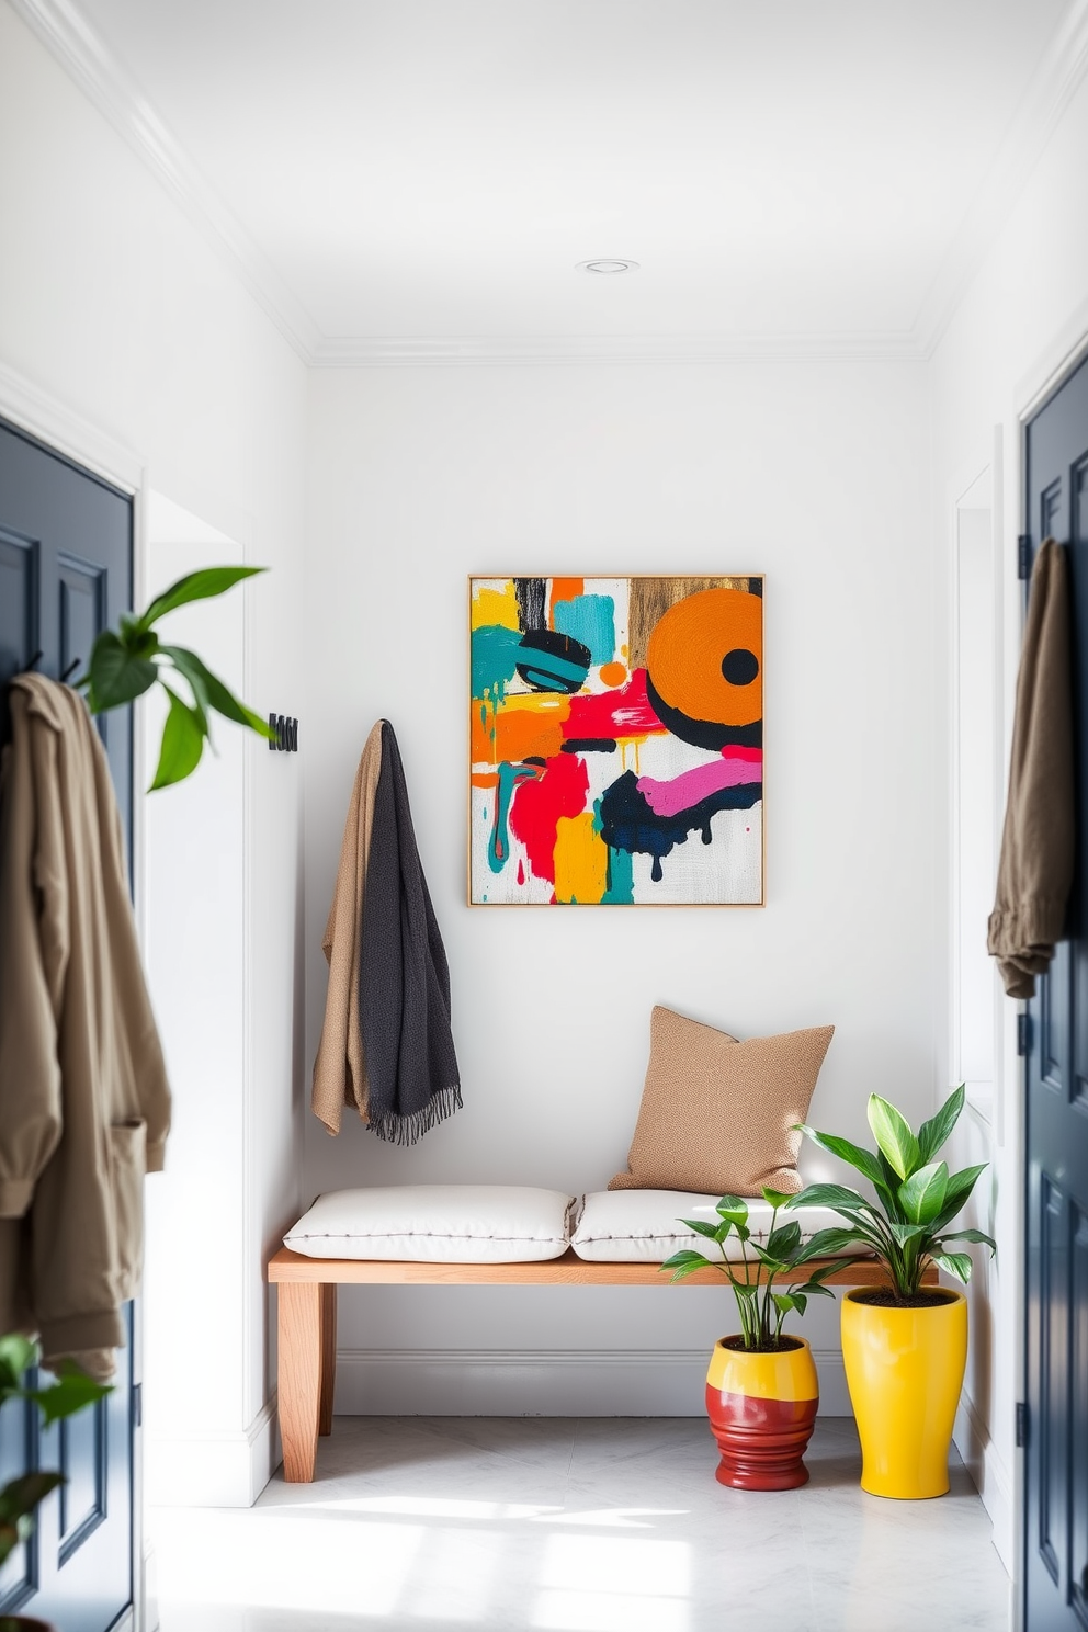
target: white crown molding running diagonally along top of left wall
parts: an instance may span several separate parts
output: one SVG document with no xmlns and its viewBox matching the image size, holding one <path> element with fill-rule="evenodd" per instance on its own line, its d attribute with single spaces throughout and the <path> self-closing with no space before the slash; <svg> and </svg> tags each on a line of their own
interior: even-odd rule
<svg viewBox="0 0 1088 1632">
<path fill-rule="evenodd" d="M 228 261 L 284 339 L 308 362 L 320 330 L 246 230 L 158 118 L 124 64 L 73 0 L 8 0 L 114 131 Z"/>
</svg>

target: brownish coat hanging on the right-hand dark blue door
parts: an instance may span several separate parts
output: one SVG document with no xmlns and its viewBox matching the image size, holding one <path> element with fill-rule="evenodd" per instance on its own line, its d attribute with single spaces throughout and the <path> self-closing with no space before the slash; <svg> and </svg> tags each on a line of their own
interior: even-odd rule
<svg viewBox="0 0 1088 1632">
<path fill-rule="evenodd" d="M 1036 974 L 1064 935 L 1073 883 L 1073 698 L 1065 550 L 1039 545 L 1016 681 L 1008 805 L 987 945 L 1010 997 L 1034 997 Z"/>
</svg>

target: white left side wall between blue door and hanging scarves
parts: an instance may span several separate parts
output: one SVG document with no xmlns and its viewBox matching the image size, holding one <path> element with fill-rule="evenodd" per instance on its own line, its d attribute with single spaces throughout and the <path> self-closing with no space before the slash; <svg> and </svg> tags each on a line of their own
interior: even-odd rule
<svg viewBox="0 0 1088 1632">
<path fill-rule="evenodd" d="M 245 591 L 245 617 L 235 591 L 223 658 L 256 708 L 302 716 L 305 744 L 297 625 L 305 369 L 7 5 L 0 222 L 0 413 L 47 437 L 55 432 L 77 455 L 98 452 L 109 473 L 142 493 L 153 486 L 227 535 L 243 560 L 272 568 Z M 165 558 L 145 563 L 140 542 L 137 573 L 153 578 L 165 566 Z M 209 871 L 223 867 L 240 902 L 233 945 L 219 950 L 228 953 L 227 978 L 245 994 L 245 1009 L 230 1053 L 220 1051 L 220 1033 L 204 1027 L 199 1004 L 178 1004 L 176 982 L 186 978 L 178 960 L 150 971 L 184 1136 L 168 1151 L 166 1172 L 148 1180 L 152 1213 L 184 1193 L 179 1227 L 194 1208 L 222 1208 L 223 1239 L 210 1260 L 176 1255 L 166 1289 L 171 1340 L 148 1350 L 145 1382 L 148 1435 L 168 1435 L 178 1407 L 192 1439 L 206 1439 L 188 1487 L 184 1469 L 175 1470 L 175 1493 L 199 1498 L 210 1480 L 219 1500 L 246 1501 L 272 1454 L 261 1253 L 297 1204 L 302 827 L 297 762 L 268 754 L 256 739 L 223 741 L 223 749 L 225 764 L 204 783 L 194 837 Z M 232 837 L 235 849 L 241 840 L 241 880 L 237 858 L 225 865 L 217 827 L 235 754 L 245 767 L 241 831 Z M 175 819 L 186 792 L 178 798 Z M 227 806 L 232 800 L 233 792 Z M 147 862 L 153 873 L 153 852 Z M 175 891 L 170 914 L 155 919 L 160 951 L 186 943 L 199 958 L 209 924 L 196 914 L 196 898 Z M 197 1090 L 212 1077 L 219 1092 L 204 1097 Z M 199 1159 L 228 1147 L 233 1177 L 223 1195 Z M 148 1245 L 153 1258 L 157 1244 Z M 237 1310 L 228 1332 L 215 1322 L 223 1279 L 232 1279 Z"/>
</svg>

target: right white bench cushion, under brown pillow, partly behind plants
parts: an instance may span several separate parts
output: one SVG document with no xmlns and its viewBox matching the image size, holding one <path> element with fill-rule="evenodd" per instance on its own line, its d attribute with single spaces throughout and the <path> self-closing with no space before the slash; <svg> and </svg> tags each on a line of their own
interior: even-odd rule
<svg viewBox="0 0 1088 1632">
<path fill-rule="evenodd" d="M 664 1263 L 674 1252 L 693 1247 L 714 1258 L 711 1240 L 685 1229 L 679 1219 L 706 1219 L 719 1224 L 714 1211 L 718 1196 L 687 1190 L 595 1190 L 586 1196 L 582 1216 L 571 1240 L 579 1258 L 590 1263 Z M 752 1239 L 767 1240 L 772 1209 L 767 1201 L 749 1201 L 749 1229 Z M 778 1222 L 798 1219 L 801 1235 L 807 1240 L 819 1229 L 834 1229 L 845 1222 L 830 1208 L 798 1208 L 780 1213 Z M 856 1247 L 843 1250 L 842 1257 L 856 1253 Z M 726 1242 L 726 1257 L 741 1258 L 741 1242 L 736 1235 Z"/>
</svg>

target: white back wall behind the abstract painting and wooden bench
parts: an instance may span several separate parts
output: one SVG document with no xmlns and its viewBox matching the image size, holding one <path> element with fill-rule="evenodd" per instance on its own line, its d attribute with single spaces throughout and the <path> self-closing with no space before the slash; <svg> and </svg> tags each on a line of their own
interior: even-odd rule
<svg viewBox="0 0 1088 1632">
<path fill-rule="evenodd" d="M 307 1064 L 351 780 L 385 715 L 450 955 L 465 1110 L 413 1149 L 307 1118 L 305 1196 L 604 1188 L 656 1002 L 741 1036 L 832 1020 L 820 1126 L 865 1136 L 871 1089 L 928 1115 L 943 762 L 925 370 L 375 369 L 310 390 Z M 767 906 L 467 907 L 465 576 L 662 570 L 767 574 Z M 344 1289 L 339 1404 L 395 1408 L 416 1386 L 432 1410 L 600 1408 L 594 1355 L 625 1350 L 613 1410 L 700 1410 L 724 1299 Z M 834 1314 L 807 1320 L 829 1366 Z M 470 1364 L 491 1348 L 506 1369 Z M 470 1353 L 436 1366 L 429 1350 Z M 540 1350 L 563 1366 L 527 1364 Z"/>
</svg>

